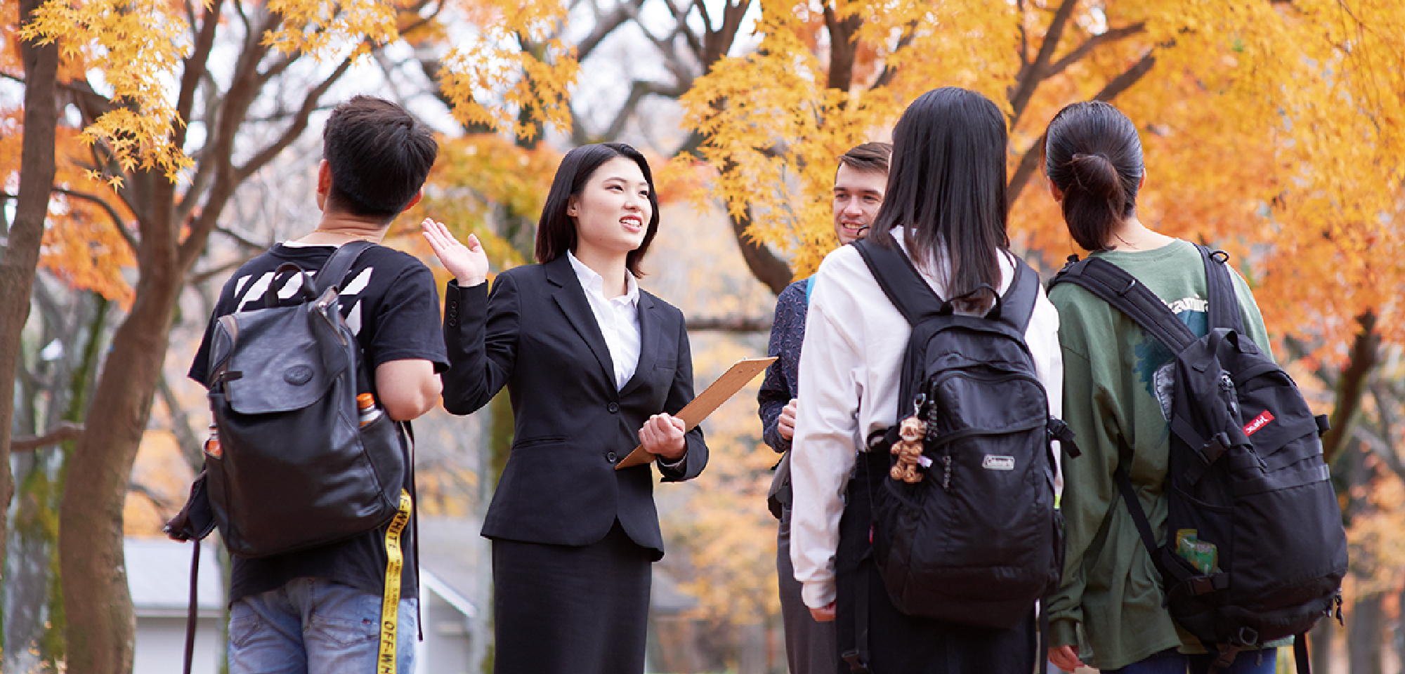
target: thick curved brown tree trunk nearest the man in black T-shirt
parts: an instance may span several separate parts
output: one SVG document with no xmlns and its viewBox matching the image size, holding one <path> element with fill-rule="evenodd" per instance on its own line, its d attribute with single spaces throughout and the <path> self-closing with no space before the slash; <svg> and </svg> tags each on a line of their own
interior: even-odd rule
<svg viewBox="0 0 1405 674">
<path fill-rule="evenodd" d="M 157 184 L 157 191 L 166 187 Z M 67 483 L 84 486 L 67 491 L 59 510 L 59 566 L 73 674 L 132 670 L 136 619 L 122 553 L 122 504 L 184 274 L 171 230 L 156 225 L 142 232 L 136 299 L 112 337 L 87 430 L 69 459 Z"/>
</svg>

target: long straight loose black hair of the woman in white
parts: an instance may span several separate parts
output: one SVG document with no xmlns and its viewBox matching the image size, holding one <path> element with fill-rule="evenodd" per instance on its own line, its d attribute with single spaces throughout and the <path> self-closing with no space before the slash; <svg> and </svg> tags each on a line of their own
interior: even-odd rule
<svg viewBox="0 0 1405 674">
<path fill-rule="evenodd" d="M 870 240 L 903 226 L 903 244 L 917 267 L 944 251 L 947 298 L 972 295 L 969 309 L 989 306 L 1000 286 L 999 254 L 1010 247 L 1005 218 L 1005 115 L 989 98 L 965 88 L 934 88 L 917 97 L 892 129 L 888 191 Z M 927 270 L 936 271 L 936 270 Z"/>
</svg>

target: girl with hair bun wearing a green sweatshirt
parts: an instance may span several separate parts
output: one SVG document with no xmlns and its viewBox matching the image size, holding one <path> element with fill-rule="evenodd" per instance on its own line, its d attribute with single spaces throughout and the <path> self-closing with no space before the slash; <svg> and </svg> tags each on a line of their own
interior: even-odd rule
<svg viewBox="0 0 1405 674">
<path fill-rule="evenodd" d="M 1135 277 L 1204 336 L 1208 293 L 1200 251 L 1137 219 L 1146 167 L 1132 121 L 1106 103 L 1075 103 L 1054 117 L 1045 138 L 1050 192 L 1073 240 Z M 1238 274 L 1234 286 L 1249 337 L 1272 354 L 1253 293 Z M 1050 300 L 1059 315 L 1064 420 L 1083 452 L 1064 461 L 1066 557 L 1061 587 L 1048 602 L 1050 660 L 1065 671 L 1086 661 L 1103 674 L 1204 673 L 1211 656 L 1163 608 L 1161 577 L 1132 517 L 1117 504 L 1113 480 L 1125 444 L 1132 448 L 1132 487 L 1163 536 L 1172 354 L 1075 284 L 1055 285 Z M 1267 674 L 1274 654 L 1273 647 L 1241 653 L 1221 671 Z"/>
</svg>

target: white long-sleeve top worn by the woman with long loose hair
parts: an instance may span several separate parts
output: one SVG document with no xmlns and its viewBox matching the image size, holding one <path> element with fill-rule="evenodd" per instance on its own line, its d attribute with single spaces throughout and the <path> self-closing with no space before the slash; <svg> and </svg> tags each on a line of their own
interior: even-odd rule
<svg viewBox="0 0 1405 674">
<path fill-rule="evenodd" d="M 902 229 L 894 227 L 902 246 Z M 903 247 L 906 250 L 906 247 Z M 936 261 L 919 270 L 939 268 Z M 1000 293 L 1010 286 L 1014 265 L 1000 256 Z M 941 274 L 944 277 L 944 274 Z M 923 278 L 946 296 L 943 278 Z M 854 452 L 868 432 L 898 420 L 902 357 L 912 334 L 906 319 L 884 295 L 863 257 L 842 246 L 819 265 L 805 320 L 799 358 L 799 411 L 791 451 L 791 562 L 804 584 L 806 607 L 835 601 L 835 549 L 843 491 Z M 1058 312 L 1040 288 L 1024 341 L 1048 393 L 1050 414 L 1062 409 L 1064 361 L 1058 345 Z M 1057 452 L 1055 452 L 1057 455 Z"/>
</svg>

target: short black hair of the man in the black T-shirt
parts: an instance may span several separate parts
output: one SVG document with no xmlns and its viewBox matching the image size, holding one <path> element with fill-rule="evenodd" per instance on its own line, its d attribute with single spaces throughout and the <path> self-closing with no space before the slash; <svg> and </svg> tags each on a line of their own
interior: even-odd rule
<svg viewBox="0 0 1405 674">
<path fill-rule="evenodd" d="M 438 143 L 405 108 L 357 95 L 332 110 L 322 157 L 332 167 L 329 208 L 389 222 L 424 185 Z"/>
</svg>

